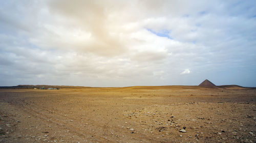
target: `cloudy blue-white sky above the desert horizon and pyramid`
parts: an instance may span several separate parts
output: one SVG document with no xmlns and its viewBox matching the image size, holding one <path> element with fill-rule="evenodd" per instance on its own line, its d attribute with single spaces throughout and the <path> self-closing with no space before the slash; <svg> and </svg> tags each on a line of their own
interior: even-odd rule
<svg viewBox="0 0 256 143">
<path fill-rule="evenodd" d="M 254 0 L 0 3 L 0 86 L 256 87 Z"/>
</svg>

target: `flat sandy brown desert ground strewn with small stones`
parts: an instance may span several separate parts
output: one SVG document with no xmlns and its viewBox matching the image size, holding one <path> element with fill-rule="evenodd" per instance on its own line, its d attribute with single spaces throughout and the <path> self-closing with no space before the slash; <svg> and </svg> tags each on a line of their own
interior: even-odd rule
<svg viewBox="0 0 256 143">
<path fill-rule="evenodd" d="M 236 87 L 0 89 L 0 142 L 256 142 L 255 105 Z"/>
</svg>

